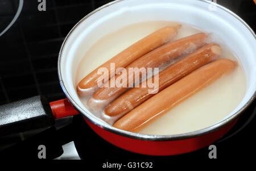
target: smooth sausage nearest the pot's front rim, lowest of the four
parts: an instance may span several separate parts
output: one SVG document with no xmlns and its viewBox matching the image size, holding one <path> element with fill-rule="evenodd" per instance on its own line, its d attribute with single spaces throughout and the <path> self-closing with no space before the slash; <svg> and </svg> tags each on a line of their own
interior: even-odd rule
<svg viewBox="0 0 256 171">
<path fill-rule="evenodd" d="M 126 131 L 136 131 L 216 81 L 222 75 L 232 72 L 236 65 L 237 63 L 234 61 L 220 59 L 202 66 L 130 111 L 115 122 L 114 127 Z"/>
</svg>

